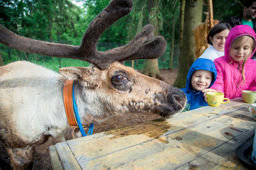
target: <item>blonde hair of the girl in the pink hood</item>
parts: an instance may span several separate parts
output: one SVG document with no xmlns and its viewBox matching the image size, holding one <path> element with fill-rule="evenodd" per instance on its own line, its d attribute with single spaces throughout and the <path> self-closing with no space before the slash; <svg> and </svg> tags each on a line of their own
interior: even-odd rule
<svg viewBox="0 0 256 170">
<path fill-rule="evenodd" d="M 234 46 L 236 46 L 237 44 L 239 43 L 243 43 L 243 42 L 246 42 L 248 41 L 250 43 L 250 46 L 251 46 L 251 52 L 248 56 L 246 56 L 246 58 L 244 59 L 243 61 L 243 64 L 242 64 L 242 76 L 243 76 L 243 80 L 244 80 L 244 83 L 245 84 L 245 73 L 244 73 L 244 67 L 245 67 L 245 63 L 247 61 L 247 59 L 252 55 L 252 53 L 254 52 L 254 49 L 255 49 L 255 40 L 249 36 L 249 35 L 243 35 L 243 36 L 240 36 L 240 37 L 237 37 L 236 39 L 234 39 L 232 45 L 231 45 L 231 48 L 230 48 L 230 51 L 234 48 Z"/>
</svg>

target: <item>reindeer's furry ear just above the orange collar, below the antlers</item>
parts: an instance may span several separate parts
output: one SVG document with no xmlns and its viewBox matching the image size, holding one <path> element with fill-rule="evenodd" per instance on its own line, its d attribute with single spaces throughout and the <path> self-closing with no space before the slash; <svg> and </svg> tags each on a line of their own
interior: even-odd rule
<svg viewBox="0 0 256 170">
<path fill-rule="evenodd" d="M 69 80 L 78 80 L 84 87 L 94 89 L 101 84 L 101 70 L 97 67 L 62 67 L 59 72 Z"/>
</svg>

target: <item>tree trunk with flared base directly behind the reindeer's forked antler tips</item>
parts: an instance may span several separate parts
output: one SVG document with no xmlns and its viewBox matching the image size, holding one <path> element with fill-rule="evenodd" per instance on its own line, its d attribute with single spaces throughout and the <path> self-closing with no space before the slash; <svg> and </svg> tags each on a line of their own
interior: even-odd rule
<svg viewBox="0 0 256 170">
<path fill-rule="evenodd" d="M 154 26 L 154 36 L 159 35 L 159 18 L 161 0 L 149 0 L 148 10 L 149 14 L 149 24 Z M 152 9 L 154 8 L 154 9 Z M 162 76 L 158 67 L 158 59 L 148 59 L 144 67 L 142 74 L 162 80 Z"/>
</svg>

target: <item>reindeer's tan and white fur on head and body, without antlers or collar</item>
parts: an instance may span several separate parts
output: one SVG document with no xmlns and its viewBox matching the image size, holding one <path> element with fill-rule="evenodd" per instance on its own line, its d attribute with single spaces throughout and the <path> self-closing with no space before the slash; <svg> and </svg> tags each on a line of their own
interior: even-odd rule
<svg viewBox="0 0 256 170">
<path fill-rule="evenodd" d="M 35 146 L 53 136 L 64 140 L 69 123 L 63 104 L 65 79 L 75 81 L 75 100 L 82 124 L 101 123 L 115 114 L 149 112 L 169 117 L 180 112 L 185 94 L 119 62 L 107 70 L 66 67 L 60 75 L 26 61 L 0 67 L 0 139 L 12 166 L 31 167 Z M 116 77 L 121 81 L 115 81 Z M 79 133 L 77 137 L 81 136 Z M 31 158 L 32 157 L 32 158 Z"/>
</svg>

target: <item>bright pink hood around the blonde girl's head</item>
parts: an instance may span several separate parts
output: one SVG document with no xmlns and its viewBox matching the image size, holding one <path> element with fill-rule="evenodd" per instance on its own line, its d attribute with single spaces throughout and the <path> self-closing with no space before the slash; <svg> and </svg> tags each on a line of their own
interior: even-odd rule
<svg viewBox="0 0 256 170">
<path fill-rule="evenodd" d="M 225 56 L 226 56 L 226 59 L 228 61 L 232 60 L 232 58 L 229 54 L 230 54 L 230 48 L 231 48 L 231 45 L 232 45 L 233 41 L 237 37 L 240 37 L 240 36 L 243 36 L 243 35 L 251 36 L 254 39 L 254 41 L 256 42 L 256 34 L 255 34 L 252 27 L 250 27 L 248 25 L 237 25 L 237 26 L 233 27 L 230 30 L 230 32 L 227 36 L 226 42 L 225 42 Z M 254 49 L 252 55 L 249 58 L 253 57 L 254 52 L 255 52 L 255 49 Z"/>
</svg>

